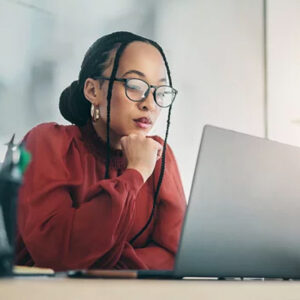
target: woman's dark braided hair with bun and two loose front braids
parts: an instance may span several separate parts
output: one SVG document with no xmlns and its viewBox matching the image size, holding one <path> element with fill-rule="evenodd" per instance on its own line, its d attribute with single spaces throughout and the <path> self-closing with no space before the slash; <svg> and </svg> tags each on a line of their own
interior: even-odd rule
<svg viewBox="0 0 300 300">
<path fill-rule="evenodd" d="M 113 61 L 113 69 L 110 75 L 107 91 L 107 122 L 106 122 L 106 167 L 105 167 L 105 178 L 109 178 L 109 166 L 110 166 L 110 108 L 111 108 L 111 97 L 114 79 L 118 70 L 120 58 L 126 47 L 134 42 L 141 41 L 153 45 L 161 54 L 168 75 L 169 84 L 172 87 L 172 79 L 170 68 L 166 59 L 166 56 L 162 48 L 154 41 L 144 38 L 142 36 L 127 32 L 118 31 L 99 38 L 87 51 L 83 62 L 81 64 L 81 70 L 79 78 L 73 81 L 69 87 L 67 87 L 60 96 L 59 109 L 62 116 L 69 122 L 81 127 L 84 126 L 90 118 L 91 103 L 87 101 L 83 94 L 84 83 L 87 78 L 96 78 L 103 74 L 104 70 L 108 68 L 111 63 L 110 57 L 111 52 L 116 50 L 116 54 Z M 163 181 L 165 171 L 165 158 L 166 158 L 166 147 L 167 138 L 169 134 L 170 119 L 171 119 L 172 105 L 168 110 L 167 128 L 165 133 L 165 139 L 163 143 L 163 151 L 161 158 L 161 170 L 158 179 L 158 183 L 155 189 L 153 206 L 151 214 L 143 228 L 130 240 L 131 243 L 142 235 L 146 228 L 151 223 L 155 207 L 157 204 L 157 198 L 159 190 Z"/>
</svg>

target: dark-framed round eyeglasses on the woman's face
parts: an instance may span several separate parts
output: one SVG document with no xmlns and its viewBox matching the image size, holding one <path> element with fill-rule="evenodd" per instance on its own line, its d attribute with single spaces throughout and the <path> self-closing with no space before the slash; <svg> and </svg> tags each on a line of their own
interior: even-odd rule
<svg viewBox="0 0 300 300">
<path fill-rule="evenodd" d="M 95 79 L 110 80 L 110 78 L 102 76 Z M 144 101 L 149 95 L 150 89 L 153 88 L 154 101 L 158 106 L 163 108 L 169 107 L 178 93 L 176 89 L 168 85 L 150 85 L 138 78 L 115 78 L 114 80 L 124 83 L 127 98 L 134 102 Z"/>
</svg>

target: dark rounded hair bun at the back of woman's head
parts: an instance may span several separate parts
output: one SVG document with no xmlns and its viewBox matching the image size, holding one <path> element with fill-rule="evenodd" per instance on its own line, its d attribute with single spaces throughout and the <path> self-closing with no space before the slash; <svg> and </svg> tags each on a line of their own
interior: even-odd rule
<svg viewBox="0 0 300 300">
<path fill-rule="evenodd" d="M 62 116 L 72 124 L 83 126 L 89 119 L 90 102 L 85 99 L 79 88 L 78 80 L 65 88 L 59 98 Z"/>
</svg>

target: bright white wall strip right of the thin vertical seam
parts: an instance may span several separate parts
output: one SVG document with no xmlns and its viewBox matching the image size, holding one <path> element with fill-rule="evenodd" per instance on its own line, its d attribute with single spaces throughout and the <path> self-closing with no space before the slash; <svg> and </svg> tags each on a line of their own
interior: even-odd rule
<svg viewBox="0 0 300 300">
<path fill-rule="evenodd" d="M 300 1 L 268 1 L 267 20 L 269 137 L 300 146 Z"/>
</svg>

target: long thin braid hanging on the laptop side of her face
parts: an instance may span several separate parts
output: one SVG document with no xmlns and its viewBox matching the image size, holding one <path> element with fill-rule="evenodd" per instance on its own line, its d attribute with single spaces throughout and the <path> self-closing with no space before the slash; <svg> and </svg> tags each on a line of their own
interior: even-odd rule
<svg viewBox="0 0 300 300">
<path fill-rule="evenodd" d="M 156 47 L 159 50 L 161 56 L 163 57 L 163 60 L 165 62 L 165 66 L 166 66 L 166 69 L 167 69 L 169 84 L 172 87 L 171 72 L 170 72 L 169 64 L 167 62 L 165 53 L 163 52 L 162 48 L 157 43 L 155 43 L 153 41 L 150 41 L 150 44 L 152 44 L 154 47 Z M 161 184 L 162 184 L 162 181 L 163 181 L 163 177 L 164 177 L 164 172 L 165 172 L 167 139 L 168 139 L 169 128 L 170 128 L 171 111 L 172 111 L 172 105 L 169 107 L 169 111 L 168 111 L 167 129 L 166 129 L 166 133 L 165 133 L 165 140 L 164 140 L 163 152 L 162 152 L 162 157 L 161 157 L 161 169 L 160 169 L 160 174 L 159 174 L 159 179 L 158 179 L 157 187 L 156 187 L 156 190 L 155 190 L 155 193 L 154 193 L 152 211 L 151 211 L 150 217 L 148 218 L 148 221 L 146 222 L 146 224 L 144 225 L 144 227 L 130 240 L 131 244 L 134 243 L 134 241 L 139 236 L 141 236 L 142 233 L 147 229 L 147 227 L 151 223 L 151 221 L 153 219 L 153 216 L 154 216 L 155 207 L 156 207 L 156 203 L 157 203 L 157 197 L 158 197 L 158 194 L 159 194 L 159 190 L 160 190 L 160 187 L 161 187 Z"/>
</svg>

